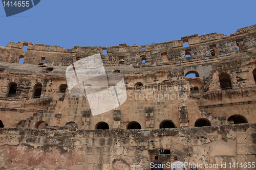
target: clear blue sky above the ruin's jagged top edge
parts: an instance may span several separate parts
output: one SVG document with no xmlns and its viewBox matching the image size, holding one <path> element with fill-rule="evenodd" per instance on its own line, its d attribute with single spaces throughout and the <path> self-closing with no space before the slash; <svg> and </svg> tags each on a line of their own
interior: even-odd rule
<svg viewBox="0 0 256 170">
<path fill-rule="evenodd" d="M 41 0 L 6 17 L 0 4 L 0 46 L 9 42 L 73 46 L 144 45 L 254 25 L 256 1 Z"/>
</svg>

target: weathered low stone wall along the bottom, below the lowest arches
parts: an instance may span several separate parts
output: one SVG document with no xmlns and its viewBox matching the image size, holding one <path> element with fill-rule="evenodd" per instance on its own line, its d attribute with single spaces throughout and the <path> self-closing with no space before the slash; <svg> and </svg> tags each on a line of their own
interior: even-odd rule
<svg viewBox="0 0 256 170">
<path fill-rule="evenodd" d="M 183 162 L 201 164 L 200 169 L 256 162 L 255 124 L 155 130 L 69 129 L 0 129 L 0 167 L 142 170 L 150 169 L 159 149 L 170 151 L 159 155 L 166 165 L 174 162 L 175 155 Z M 206 168 L 210 164 L 219 166 Z"/>
</svg>

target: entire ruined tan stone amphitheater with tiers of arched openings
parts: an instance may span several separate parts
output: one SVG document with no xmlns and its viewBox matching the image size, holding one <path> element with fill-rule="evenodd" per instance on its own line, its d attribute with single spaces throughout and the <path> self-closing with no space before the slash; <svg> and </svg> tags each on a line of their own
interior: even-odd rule
<svg viewBox="0 0 256 170">
<path fill-rule="evenodd" d="M 127 93 L 98 115 L 65 75 L 94 54 Z M 160 149 L 163 164 L 256 169 L 256 25 L 140 46 L 10 42 L 0 80 L 0 169 L 144 170 Z"/>
</svg>

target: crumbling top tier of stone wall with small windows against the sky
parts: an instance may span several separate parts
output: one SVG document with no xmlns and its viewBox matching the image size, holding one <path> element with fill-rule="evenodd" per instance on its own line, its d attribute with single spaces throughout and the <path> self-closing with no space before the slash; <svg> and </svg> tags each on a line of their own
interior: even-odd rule
<svg viewBox="0 0 256 170">
<path fill-rule="evenodd" d="M 141 67 L 194 62 L 241 53 L 241 50 L 243 50 L 242 52 L 255 50 L 255 27 L 253 25 L 239 29 L 237 33 L 230 36 L 217 33 L 202 36 L 193 35 L 182 37 L 181 40 L 141 46 L 129 46 L 126 44 L 108 47 L 75 46 L 66 50 L 59 46 L 33 44 L 32 42 L 10 42 L 6 47 L 2 47 L 0 61 L 18 63 L 19 59 L 24 57 L 24 64 L 68 66 L 77 61 L 77 59 L 93 54 L 101 54 L 104 66 L 125 64 Z M 189 46 L 183 47 L 184 42 L 188 42 Z M 23 48 L 26 45 L 28 50 L 23 52 Z M 240 46 L 239 50 L 237 45 Z M 102 55 L 103 50 L 106 50 L 108 54 Z M 163 55 L 165 53 L 167 55 L 164 59 Z M 191 57 L 185 57 L 185 55 L 190 55 Z M 142 63 L 143 58 L 145 63 Z"/>
</svg>

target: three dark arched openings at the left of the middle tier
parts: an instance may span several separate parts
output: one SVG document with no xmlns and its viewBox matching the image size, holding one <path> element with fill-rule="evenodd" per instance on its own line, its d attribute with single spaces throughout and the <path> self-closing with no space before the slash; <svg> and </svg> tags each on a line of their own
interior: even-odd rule
<svg viewBox="0 0 256 170">
<path fill-rule="evenodd" d="M 59 92 L 66 93 L 67 88 L 68 88 L 67 84 L 61 84 L 59 86 Z M 32 99 L 40 98 L 41 91 L 42 91 L 42 84 L 40 83 L 35 84 L 33 87 Z M 17 83 L 15 82 L 9 83 L 8 89 L 7 89 L 7 96 L 11 98 L 16 95 L 16 92 L 17 92 Z"/>
</svg>

